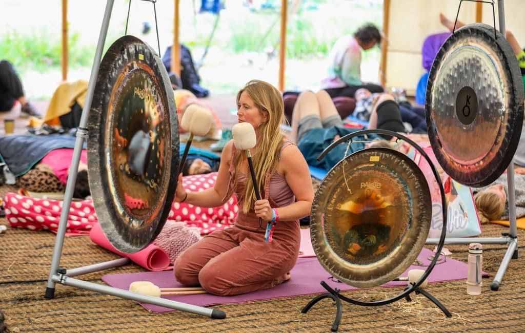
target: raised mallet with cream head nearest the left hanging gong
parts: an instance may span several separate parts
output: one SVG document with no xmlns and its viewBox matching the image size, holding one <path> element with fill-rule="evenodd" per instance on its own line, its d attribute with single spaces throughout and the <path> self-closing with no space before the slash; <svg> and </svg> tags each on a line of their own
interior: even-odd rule
<svg viewBox="0 0 525 333">
<path fill-rule="evenodd" d="M 182 154 L 181 164 L 178 166 L 179 174 L 182 173 L 184 163 L 186 163 L 186 157 L 188 156 L 190 146 L 192 145 L 193 135 L 206 135 L 210 128 L 212 128 L 212 124 L 213 116 L 209 109 L 203 108 L 203 106 L 197 104 L 188 105 L 182 115 L 181 127 L 190 132 L 190 136 L 188 137 L 184 153 Z"/>
</svg>

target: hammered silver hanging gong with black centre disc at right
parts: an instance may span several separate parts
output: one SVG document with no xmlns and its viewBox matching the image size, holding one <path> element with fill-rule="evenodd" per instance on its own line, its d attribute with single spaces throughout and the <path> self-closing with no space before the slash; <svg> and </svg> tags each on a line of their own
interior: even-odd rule
<svg viewBox="0 0 525 333">
<path fill-rule="evenodd" d="M 523 125 L 523 82 L 505 37 L 485 24 L 451 35 L 430 69 L 425 104 L 430 145 L 444 171 L 468 186 L 496 180 Z"/>
</svg>

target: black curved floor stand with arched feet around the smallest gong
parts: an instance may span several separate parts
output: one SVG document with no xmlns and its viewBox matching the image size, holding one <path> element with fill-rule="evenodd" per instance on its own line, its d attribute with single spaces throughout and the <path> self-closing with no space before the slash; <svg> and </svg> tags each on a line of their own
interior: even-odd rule
<svg viewBox="0 0 525 333">
<path fill-rule="evenodd" d="M 437 184 L 439 186 L 439 191 L 440 191 L 440 194 L 441 194 L 441 202 L 442 202 L 442 205 L 443 207 L 446 207 L 446 200 L 445 200 L 445 191 L 444 191 L 444 188 L 443 188 L 443 184 L 442 182 L 440 181 L 440 177 L 439 177 L 439 174 L 436 170 L 436 168 L 434 167 L 434 164 L 432 163 L 432 160 L 430 160 L 430 158 L 428 157 L 428 155 L 425 153 L 425 151 L 423 151 L 423 149 L 421 147 L 419 147 L 419 145 L 417 143 L 415 143 L 414 141 L 412 141 L 411 139 L 409 139 L 408 137 L 402 135 L 402 134 L 399 134 L 397 132 L 392 132 L 392 131 L 387 131 L 387 130 L 379 130 L 379 129 L 374 129 L 374 130 L 362 130 L 362 131 L 357 131 L 357 132 L 354 132 L 354 133 L 350 133 L 350 134 L 347 134 L 341 138 L 339 138 L 337 141 L 333 142 L 330 146 L 328 146 L 327 148 L 324 149 L 324 151 L 319 155 L 319 157 L 317 158 L 318 160 L 321 160 L 325 155 L 327 155 L 335 146 L 339 145 L 340 143 L 342 142 L 345 142 L 345 141 L 348 141 L 350 140 L 350 144 L 352 143 L 352 138 L 354 136 L 358 136 L 358 135 L 364 135 L 364 134 L 369 134 L 369 133 L 375 133 L 375 134 L 385 134 L 385 135 L 390 135 L 390 136 L 394 136 L 394 137 L 397 137 L 397 139 L 403 139 L 404 141 L 408 142 L 409 144 L 411 144 L 427 161 L 428 165 L 430 166 L 430 168 L 432 168 L 432 173 L 434 174 L 434 178 L 436 179 L 437 181 Z M 389 298 L 389 299 L 384 299 L 384 300 L 378 300 L 378 301 L 375 301 L 375 302 L 361 302 L 360 300 L 355 300 L 355 299 L 352 299 L 352 298 L 349 298 L 349 297 L 346 297 L 344 295 L 341 295 L 340 294 L 340 290 L 338 288 L 331 288 L 327 283 L 325 283 L 324 281 L 321 281 L 321 285 L 327 289 L 328 293 L 325 293 L 325 294 L 321 294 L 319 296 L 316 296 L 315 298 L 313 298 L 312 300 L 310 300 L 310 302 L 304 306 L 304 308 L 301 310 L 301 313 L 307 313 L 308 310 L 316 303 L 318 303 L 320 300 L 324 299 L 324 298 L 331 298 L 334 300 L 335 304 L 337 305 L 337 313 L 335 315 L 335 319 L 333 321 L 333 324 L 332 324 L 332 327 L 331 327 L 331 330 L 333 332 L 337 331 L 338 328 L 339 328 L 339 323 L 341 321 L 341 317 L 343 315 L 343 308 L 342 308 L 342 303 L 341 303 L 341 300 L 344 300 L 344 302 L 348 302 L 348 303 L 352 303 L 352 304 L 355 304 L 355 305 L 361 305 L 361 306 L 380 306 L 380 305 L 386 305 L 386 304 L 390 304 L 390 303 L 393 303 L 393 302 L 396 302 L 397 300 L 400 300 L 401 298 L 405 298 L 407 301 L 410 301 L 411 298 L 409 296 L 409 294 L 415 292 L 416 294 L 422 294 L 423 296 L 427 297 L 430 301 L 432 301 L 437 307 L 439 307 L 439 309 L 441 309 L 443 311 L 443 313 L 447 316 L 447 317 L 451 317 L 452 315 L 450 314 L 450 312 L 445 308 L 445 306 L 443 304 L 441 304 L 435 297 L 433 297 L 432 295 L 430 295 L 428 292 L 424 291 L 423 289 L 419 288 L 419 286 L 425 281 L 425 279 L 428 277 L 428 275 L 430 274 L 430 272 L 432 272 L 433 268 L 434 268 L 434 265 L 436 264 L 438 258 L 439 258 L 439 253 L 442 251 L 443 249 L 443 245 L 444 245 L 444 242 L 445 242 L 445 234 L 446 234 L 446 228 L 447 226 L 447 211 L 446 209 L 443 209 L 443 229 L 441 231 L 441 235 L 440 235 L 440 238 L 439 238 L 439 242 L 438 242 L 438 245 L 437 245 L 437 249 L 436 249 L 436 253 L 434 254 L 434 258 L 432 259 L 432 261 L 430 262 L 430 264 L 428 265 L 426 271 L 423 273 L 423 275 L 421 276 L 421 278 L 419 278 L 419 280 L 416 282 L 416 283 L 411 283 L 411 285 L 409 285 L 402 293 L 398 294 L 397 296 L 394 296 L 392 298 Z"/>
</svg>

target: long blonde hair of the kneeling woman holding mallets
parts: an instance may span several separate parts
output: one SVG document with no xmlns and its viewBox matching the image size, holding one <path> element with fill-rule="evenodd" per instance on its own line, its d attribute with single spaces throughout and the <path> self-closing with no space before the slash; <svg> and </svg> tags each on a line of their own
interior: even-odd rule
<svg viewBox="0 0 525 333">
<path fill-rule="evenodd" d="M 261 123 L 257 131 L 257 145 L 255 153 L 252 155 L 252 162 L 257 179 L 257 187 L 261 196 L 264 197 L 262 190 L 267 177 L 276 171 L 278 165 L 279 152 L 285 134 L 281 130 L 281 124 L 285 124 L 285 112 L 282 102 L 282 95 L 273 85 L 259 80 L 251 80 L 246 83 L 245 87 L 237 93 L 237 105 L 239 104 L 240 95 L 246 92 L 254 101 L 259 112 L 267 116 L 267 121 Z M 243 153 L 239 152 L 235 156 L 235 173 L 238 175 L 240 161 Z M 237 179 L 234 180 L 234 188 L 237 188 Z M 255 197 L 254 184 L 251 177 L 246 177 L 246 186 L 244 194 L 239 198 L 243 200 L 243 211 L 247 213 L 254 206 L 257 198 Z"/>
</svg>

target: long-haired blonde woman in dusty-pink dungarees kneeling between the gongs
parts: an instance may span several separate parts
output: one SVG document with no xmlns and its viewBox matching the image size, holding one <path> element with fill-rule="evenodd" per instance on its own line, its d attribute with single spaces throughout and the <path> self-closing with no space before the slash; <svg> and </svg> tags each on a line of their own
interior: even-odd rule
<svg viewBox="0 0 525 333">
<path fill-rule="evenodd" d="M 270 288 L 290 278 L 299 255 L 299 219 L 310 213 L 313 188 L 306 160 L 280 130 L 284 123 L 280 92 L 253 80 L 237 94 L 237 116 L 255 128 L 251 149 L 262 199 L 256 200 L 248 161 L 230 140 L 222 152 L 215 186 L 187 192 L 179 175 L 175 200 L 216 207 L 234 193 L 239 212 L 234 227 L 217 230 L 185 250 L 174 264 L 175 278 L 201 285 L 215 295 L 238 295 Z M 265 239 L 268 221 L 278 221 L 272 241 Z"/>
</svg>

